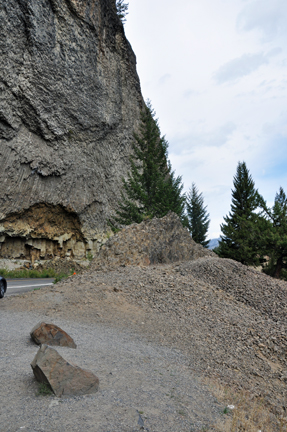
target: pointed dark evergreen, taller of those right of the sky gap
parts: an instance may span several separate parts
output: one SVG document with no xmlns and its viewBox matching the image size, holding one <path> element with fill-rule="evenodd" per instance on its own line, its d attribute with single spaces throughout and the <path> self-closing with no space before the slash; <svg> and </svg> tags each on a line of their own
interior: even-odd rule
<svg viewBox="0 0 287 432">
<path fill-rule="evenodd" d="M 259 264 L 260 232 L 265 220 L 254 212 L 259 194 L 245 162 L 238 163 L 233 185 L 231 212 L 220 226 L 223 235 L 216 252 L 242 264 Z"/>
</svg>

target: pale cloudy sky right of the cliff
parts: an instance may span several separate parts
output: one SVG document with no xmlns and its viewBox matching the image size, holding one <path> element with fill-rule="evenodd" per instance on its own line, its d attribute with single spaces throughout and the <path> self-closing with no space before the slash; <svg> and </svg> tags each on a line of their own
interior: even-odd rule
<svg viewBox="0 0 287 432">
<path fill-rule="evenodd" d="M 125 32 L 184 190 L 209 238 L 230 211 L 238 162 L 271 206 L 287 192 L 287 1 L 130 0 Z"/>
</svg>

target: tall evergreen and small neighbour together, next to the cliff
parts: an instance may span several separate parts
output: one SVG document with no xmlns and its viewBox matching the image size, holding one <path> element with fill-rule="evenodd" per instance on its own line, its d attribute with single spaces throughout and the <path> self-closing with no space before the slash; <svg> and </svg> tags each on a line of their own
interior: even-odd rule
<svg viewBox="0 0 287 432">
<path fill-rule="evenodd" d="M 121 199 L 116 215 L 109 220 L 113 229 L 161 218 L 176 213 L 192 238 L 208 246 L 209 214 L 201 193 L 193 183 L 189 193 L 182 193 L 181 176 L 176 176 L 168 160 L 168 142 L 161 135 L 158 120 L 150 102 L 141 112 L 139 131 L 134 135 L 130 171 L 123 178 Z"/>
</svg>

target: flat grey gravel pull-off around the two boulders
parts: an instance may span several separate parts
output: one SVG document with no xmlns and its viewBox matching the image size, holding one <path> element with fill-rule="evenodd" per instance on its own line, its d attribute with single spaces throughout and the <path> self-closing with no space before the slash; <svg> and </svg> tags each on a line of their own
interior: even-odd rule
<svg viewBox="0 0 287 432">
<path fill-rule="evenodd" d="M 190 432 L 204 430 L 222 411 L 179 351 L 129 330 L 60 318 L 78 347 L 58 352 L 93 371 L 100 388 L 83 397 L 37 396 L 30 363 L 38 347 L 29 332 L 42 318 L 1 310 L 1 431 Z"/>
</svg>

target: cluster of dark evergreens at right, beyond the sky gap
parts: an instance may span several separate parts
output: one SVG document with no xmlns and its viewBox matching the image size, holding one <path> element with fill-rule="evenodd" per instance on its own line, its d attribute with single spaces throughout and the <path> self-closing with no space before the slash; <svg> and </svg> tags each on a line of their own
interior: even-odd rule
<svg viewBox="0 0 287 432">
<path fill-rule="evenodd" d="M 242 264 L 262 265 L 265 273 L 286 278 L 287 197 L 283 188 L 268 207 L 245 162 L 238 163 L 233 186 L 231 211 L 220 226 L 223 235 L 215 252 Z"/>
</svg>

